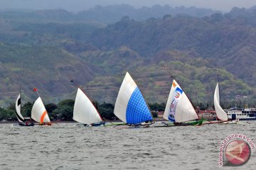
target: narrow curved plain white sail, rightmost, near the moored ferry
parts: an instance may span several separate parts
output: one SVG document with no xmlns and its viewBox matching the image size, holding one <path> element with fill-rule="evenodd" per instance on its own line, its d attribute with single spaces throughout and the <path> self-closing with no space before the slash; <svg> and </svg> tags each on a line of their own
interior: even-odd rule
<svg viewBox="0 0 256 170">
<path fill-rule="evenodd" d="M 218 83 L 214 92 L 214 107 L 215 107 L 215 111 L 218 119 L 223 121 L 228 120 L 228 114 L 225 113 L 225 111 L 223 111 L 223 108 L 221 108 L 220 106 L 220 91 L 219 91 Z"/>
</svg>

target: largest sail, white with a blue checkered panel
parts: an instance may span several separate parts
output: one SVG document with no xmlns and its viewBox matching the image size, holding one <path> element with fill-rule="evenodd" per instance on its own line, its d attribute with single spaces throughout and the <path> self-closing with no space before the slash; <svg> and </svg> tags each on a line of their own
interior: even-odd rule
<svg viewBox="0 0 256 170">
<path fill-rule="evenodd" d="M 114 106 L 114 115 L 128 124 L 153 120 L 142 92 L 128 72 L 119 89 L 117 101 Z"/>
</svg>

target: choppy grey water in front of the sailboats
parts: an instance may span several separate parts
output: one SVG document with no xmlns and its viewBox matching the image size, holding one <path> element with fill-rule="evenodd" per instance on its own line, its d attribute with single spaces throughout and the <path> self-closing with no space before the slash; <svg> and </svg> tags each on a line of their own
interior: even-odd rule
<svg viewBox="0 0 256 170">
<path fill-rule="evenodd" d="M 220 142 L 256 123 L 170 128 L 0 125 L 0 169 L 216 169 Z M 223 167 L 234 169 L 234 167 Z M 256 169 L 256 151 L 235 169 Z"/>
</svg>

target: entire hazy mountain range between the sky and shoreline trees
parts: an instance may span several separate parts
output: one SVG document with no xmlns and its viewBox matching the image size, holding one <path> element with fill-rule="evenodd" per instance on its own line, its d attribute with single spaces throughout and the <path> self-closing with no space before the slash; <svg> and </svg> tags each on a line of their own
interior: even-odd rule
<svg viewBox="0 0 256 170">
<path fill-rule="evenodd" d="M 95 10 L 104 14 L 99 18 L 85 11 L 1 11 L 1 106 L 15 101 L 20 84 L 26 101 L 36 99 L 34 87 L 46 103 L 75 98 L 70 79 L 92 100 L 114 103 L 126 71 L 150 103 L 166 102 L 170 75 L 195 102 L 213 101 L 217 74 L 223 101 L 255 98 L 255 8 L 147 18 L 145 12 L 135 19 L 139 14 L 129 14 L 140 9 L 122 7 L 127 15 L 116 23 L 111 12 L 105 21 L 104 9 Z"/>
</svg>

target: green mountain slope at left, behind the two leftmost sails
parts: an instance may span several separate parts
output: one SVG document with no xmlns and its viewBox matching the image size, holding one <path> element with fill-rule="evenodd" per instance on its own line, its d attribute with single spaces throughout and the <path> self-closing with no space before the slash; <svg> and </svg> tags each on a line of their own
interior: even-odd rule
<svg viewBox="0 0 256 170">
<path fill-rule="evenodd" d="M 36 87 L 46 102 L 56 102 L 74 90 L 70 79 L 87 82 L 95 75 L 85 62 L 58 47 L 0 45 L 0 70 L 5 103 L 14 102 L 20 85 L 26 101 L 36 99 Z"/>
</svg>

